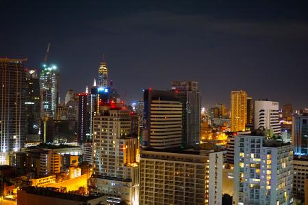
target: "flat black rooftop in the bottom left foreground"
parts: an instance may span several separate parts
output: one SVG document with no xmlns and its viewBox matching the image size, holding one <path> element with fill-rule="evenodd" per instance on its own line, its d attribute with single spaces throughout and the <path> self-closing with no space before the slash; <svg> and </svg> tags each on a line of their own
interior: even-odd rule
<svg viewBox="0 0 308 205">
<path fill-rule="evenodd" d="M 49 187 L 49 188 L 43 188 L 43 187 L 23 187 L 21 190 L 26 191 L 27 193 L 33 194 L 33 195 L 42 195 L 46 197 L 57 197 L 63 200 L 70 200 L 70 201 L 77 201 L 77 202 L 88 202 L 89 200 L 96 199 L 100 196 L 97 195 L 77 195 L 72 193 L 61 193 L 56 191 L 57 189 Z"/>
</svg>

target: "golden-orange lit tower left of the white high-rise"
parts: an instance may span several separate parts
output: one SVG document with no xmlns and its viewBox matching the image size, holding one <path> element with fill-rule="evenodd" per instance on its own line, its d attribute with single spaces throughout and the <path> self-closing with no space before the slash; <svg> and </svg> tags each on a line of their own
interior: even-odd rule
<svg viewBox="0 0 308 205">
<path fill-rule="evenodd" d="M 247 120 L 246 92 L 231 91 L 231 132 L 245 131 Z"/>
</svg>

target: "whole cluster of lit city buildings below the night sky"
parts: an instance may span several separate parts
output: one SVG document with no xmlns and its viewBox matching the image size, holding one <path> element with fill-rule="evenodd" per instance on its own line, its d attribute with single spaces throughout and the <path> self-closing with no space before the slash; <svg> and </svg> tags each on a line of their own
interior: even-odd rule
<svg viewBox="0 0 308 205">
<path fill-rule="evenodd" d="M 305 109 L 281 110 L 239 90 L 229 110 L 218 103 L 205 111 L 196 81 L 145 89 L 142 100 L 125 105 L 105 60 L 98 83 L 68 90 L 60 102 L 56 66 L 44 64 L 39 73 L 25 61 L 0 59 L 0 163 L 24 177 L 18 204 L 223 204 L 225 194 L 233 204 L 307 199 Z"/>
</svg>

